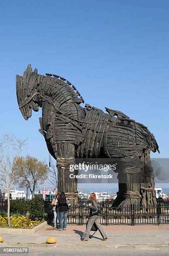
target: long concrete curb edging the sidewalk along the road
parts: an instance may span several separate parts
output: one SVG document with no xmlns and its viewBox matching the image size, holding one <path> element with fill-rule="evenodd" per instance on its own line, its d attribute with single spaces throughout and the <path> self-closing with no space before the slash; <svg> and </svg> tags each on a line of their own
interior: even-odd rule
<svg viewBox="0 0 169 256">
<path fill-rule="evenodd" d="M 47 243 L 0 243 L 0 247 L 29 247 L 29 248 L 59 248 L 59 249 L 80 249 L 80 250 L 145 250 L 145 249 L 163 249 L 169 250 L 169 245 L 92 245 L 86 244 L 47 244 Z"/>
</svg>

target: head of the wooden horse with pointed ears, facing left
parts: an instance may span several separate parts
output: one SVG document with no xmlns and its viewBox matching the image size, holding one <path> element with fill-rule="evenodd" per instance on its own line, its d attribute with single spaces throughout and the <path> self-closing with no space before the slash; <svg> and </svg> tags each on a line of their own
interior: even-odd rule
<svg viewBox="0 0 169 256">
<path fill-rule="evenodd" d="M 37 69 L 32 72 L 30 64 L 23 76 L 16 75 L 17 102 L 25 120 L 31 117 L 32 110 L 39 110 L 39 84 L 42 77 L 37 74 Z"/>
</svg>

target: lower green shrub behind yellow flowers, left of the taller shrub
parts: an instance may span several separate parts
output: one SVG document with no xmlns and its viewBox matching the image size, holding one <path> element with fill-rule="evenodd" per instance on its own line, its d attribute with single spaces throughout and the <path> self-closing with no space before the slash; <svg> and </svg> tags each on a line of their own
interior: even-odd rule
<svg viewBox="0 0 169 256">
<path fill-rule="evenodd" d="M 23 199 L 16 199 L 16 200 L 10 201 L 10 212 L 12 212 L 12 214 L 25 216 L 25 213 L 28 210 L 29 210 L 29 207 L 27 206 L 27 201 Z"/>
</svg>

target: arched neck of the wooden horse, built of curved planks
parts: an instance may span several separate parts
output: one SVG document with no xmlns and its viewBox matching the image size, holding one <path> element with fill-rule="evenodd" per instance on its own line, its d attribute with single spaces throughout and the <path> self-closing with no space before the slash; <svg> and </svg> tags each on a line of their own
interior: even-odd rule
<svg viewBox="0 0 169 256">
<path fill-rule="evenodd" d="M 84 109 L 80 106 L 81 99 L 65 82 L 44 77 L 39 91 L 42 95 L 42 123 L 45 130 L 54 116 L 57 118 L 58 115 L 64 115 L 77 120 L 85 118 Z"/>
</svg>

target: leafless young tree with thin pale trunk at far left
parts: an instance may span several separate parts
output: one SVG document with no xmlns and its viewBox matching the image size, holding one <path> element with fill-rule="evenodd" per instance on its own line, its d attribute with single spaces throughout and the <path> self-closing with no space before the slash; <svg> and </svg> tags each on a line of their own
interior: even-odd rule
<svg viewBox="0 0 169 256">
<path fill-rule="evenodd" d="M 10 189 L 17 180 L 17 159 L 26 149 L 27 139 L 4 134 L 0 141 L 0 186 L 7 192 L 7 224 L 10 226 Z"/>
</svg>

